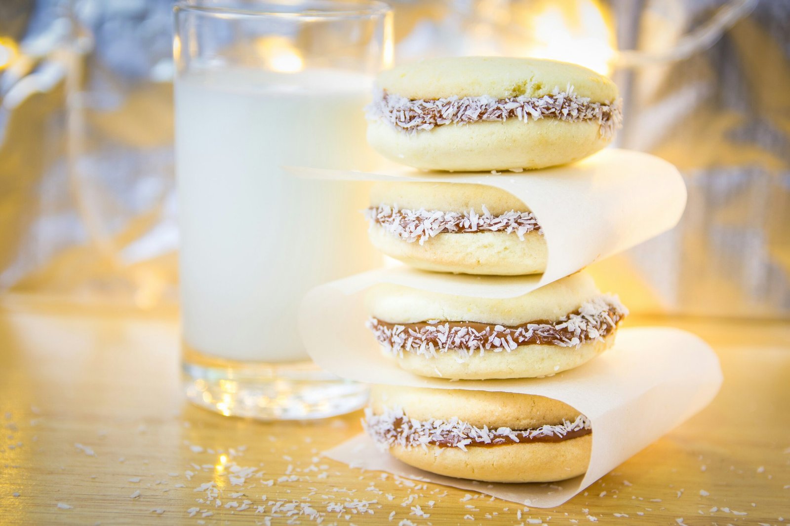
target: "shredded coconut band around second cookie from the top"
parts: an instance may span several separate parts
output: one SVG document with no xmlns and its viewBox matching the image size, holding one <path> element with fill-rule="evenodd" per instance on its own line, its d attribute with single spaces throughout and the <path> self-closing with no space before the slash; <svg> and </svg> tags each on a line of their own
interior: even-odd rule
<svg viewBox="0 0 790 526">
<path fill-rule="evenodd" d="M 485 205 L 481 208 L 482 215 L 474 210 L 468 212 L 443 212 L 424 208 L 408 210 L 382 204 L 378 207 L 370 207 L 364 213 L 371 226 L 378 223 L 387 232 L 408 243 L 419 241 L 419 244 L 423 244 L 427 239 L 436 237 L 440 233 L 516 233 L 521 241 L 524 241 L 525 233 L 533 230 L 543 234 L 532 212 L 511 210 L 504 214 L 492 215 Z"/>
</svg>

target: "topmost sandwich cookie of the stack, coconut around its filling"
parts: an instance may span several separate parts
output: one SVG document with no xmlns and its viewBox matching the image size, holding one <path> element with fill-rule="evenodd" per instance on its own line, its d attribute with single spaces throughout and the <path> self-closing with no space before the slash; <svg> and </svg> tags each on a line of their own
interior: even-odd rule
<svg viewBox="0 0 790 526">
<path fill-rule="evenodd" d="M 424 170 L 521 170 L 574 162 L 622 121 L 615 84 L 537 58 L 432 58 L 378 76 L 367 140 Z"/>
</svg>

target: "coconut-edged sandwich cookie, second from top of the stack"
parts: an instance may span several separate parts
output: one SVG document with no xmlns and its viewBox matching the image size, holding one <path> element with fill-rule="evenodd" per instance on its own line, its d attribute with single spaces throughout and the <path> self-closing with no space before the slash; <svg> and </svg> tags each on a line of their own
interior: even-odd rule
<svg viewBox="0 0 790 526">
<path fill-rule="evenodd" d="M 412 267 L 495 275 L 546 268 L 537 219 L 521 200 L 493 186 L 377 183 L 366 215 L 374 246 Z"/>
</svg>

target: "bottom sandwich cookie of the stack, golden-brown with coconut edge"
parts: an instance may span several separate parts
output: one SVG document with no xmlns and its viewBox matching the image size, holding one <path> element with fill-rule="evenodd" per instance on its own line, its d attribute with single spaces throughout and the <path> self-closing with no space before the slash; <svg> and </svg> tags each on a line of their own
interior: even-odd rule
<svg viewBox="0 0 790 526">
<path fill-rule="evenodd" d="M 586 416 L 529 394 L 374 386 L 363 426 L 406 464 L 486 482 L 570 479 L 592 450 Z"/>
</svg>

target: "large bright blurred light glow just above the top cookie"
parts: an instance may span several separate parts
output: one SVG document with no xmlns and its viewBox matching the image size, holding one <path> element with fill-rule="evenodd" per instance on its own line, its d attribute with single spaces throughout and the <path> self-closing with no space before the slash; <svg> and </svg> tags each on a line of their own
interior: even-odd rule
<svg viewBox="0 0 790 526">
<path fill-rule="evenodd" d="M 614 32 L 595 0 L 540 2 L 529 12 L 531 42 L 525 56 L 574 62 L 597 73 L 611 73 Z"/>
</svg>

